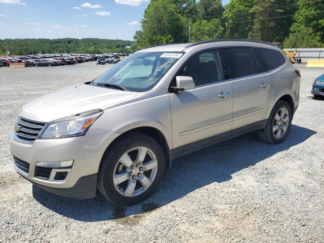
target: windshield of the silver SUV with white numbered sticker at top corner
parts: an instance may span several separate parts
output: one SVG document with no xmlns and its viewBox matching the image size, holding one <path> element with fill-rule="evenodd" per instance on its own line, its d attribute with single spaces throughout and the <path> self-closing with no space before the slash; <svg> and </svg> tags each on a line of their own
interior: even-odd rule
<svg viewBox="0 0 324 243">
<path fill-rule="evenodd" d="M 152 89 L 183 53 L 140 52 L 114 64 L 93 83 L 125 87 L 129 91 Z M 106 86 L 107 87 L 107 86 Z"/>
</svg>

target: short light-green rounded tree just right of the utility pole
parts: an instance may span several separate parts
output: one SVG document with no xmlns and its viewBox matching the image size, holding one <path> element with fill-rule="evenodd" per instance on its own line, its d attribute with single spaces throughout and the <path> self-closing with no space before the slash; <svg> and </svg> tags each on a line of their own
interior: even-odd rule
<svg viewBox="0 0 324 243">
<path fill-rule="evenodd" d="M 223 37 L 224 28 L 219 19 L 207 20 L 197 20 L 192 25 L 192 41 L 209 41 L 210 39 L 218 39 Z"/>
</svg>

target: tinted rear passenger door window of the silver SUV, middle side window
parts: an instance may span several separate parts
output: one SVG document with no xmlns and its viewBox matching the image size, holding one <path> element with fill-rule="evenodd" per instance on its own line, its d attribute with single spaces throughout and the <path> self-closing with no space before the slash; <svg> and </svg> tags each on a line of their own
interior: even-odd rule
<svg viewBox="0 0 324 243">
<path fill-rule="evenodd" d="M 260 72 L 251 48 L 226 48 L 224 51 L 231 67 L 231 78 Z"/>
</svg>

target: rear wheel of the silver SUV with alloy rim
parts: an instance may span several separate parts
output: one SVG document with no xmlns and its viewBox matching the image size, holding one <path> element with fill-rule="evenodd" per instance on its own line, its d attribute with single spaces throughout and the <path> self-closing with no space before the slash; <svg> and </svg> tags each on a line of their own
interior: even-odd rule
<svg viewBox="0 0 324 243">
<path fill-rule="evenodd" d="M 279 100 L 269 115 L 267 124 L 259 132 L 262 141 L 270 144 L 278 144 L 287 137 L 293 119 L 291 106 L 286 102 Z"/>
</svg>

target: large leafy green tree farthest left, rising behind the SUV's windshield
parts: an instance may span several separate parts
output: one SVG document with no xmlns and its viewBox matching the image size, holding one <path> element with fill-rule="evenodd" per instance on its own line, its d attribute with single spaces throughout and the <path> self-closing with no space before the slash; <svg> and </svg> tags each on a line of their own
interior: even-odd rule
<svg viewBox="0 0 324 243">
<path fill-rule="evenodd" d="M 187 39 L 187 21 L 177 13 L 172 0 L 152 1 L 144 11 L 142 30 L 135 33 L 139 48 L 146 46 L 181 43 Z"/>
</svg>

